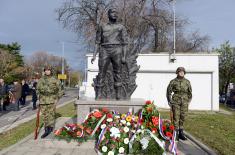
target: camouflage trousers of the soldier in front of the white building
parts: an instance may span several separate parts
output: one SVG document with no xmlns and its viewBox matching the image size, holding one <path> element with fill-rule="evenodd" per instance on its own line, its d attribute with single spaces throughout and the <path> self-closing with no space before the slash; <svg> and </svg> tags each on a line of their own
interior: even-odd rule
<svg viewBox="0 0 235 155">
<path fill-rule="evenodd" d="M 172 104 L 172 112 L 175 129 L 183 129 L 185 117 L 188 112 L 188 103 Z"/>
</svg>

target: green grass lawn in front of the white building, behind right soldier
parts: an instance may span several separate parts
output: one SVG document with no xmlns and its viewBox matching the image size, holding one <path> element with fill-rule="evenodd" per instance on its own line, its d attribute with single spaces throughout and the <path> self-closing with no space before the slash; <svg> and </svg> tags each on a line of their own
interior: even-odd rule
<svg viewBox="0 0 235 155">
<path fill-rule="evenodd" d="M 231 114 L 213 112 L 189 112 L 185 130 L 221 155 L 235 152 L 235 111 L 221 105 L 220 109 Z M 163 118 L 169 119 L 169 112 L 160 111 Z"/>
</svg>

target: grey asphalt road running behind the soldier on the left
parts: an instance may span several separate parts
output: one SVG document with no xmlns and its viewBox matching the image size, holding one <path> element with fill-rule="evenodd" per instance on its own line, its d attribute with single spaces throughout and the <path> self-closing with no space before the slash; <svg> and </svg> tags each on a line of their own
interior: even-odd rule
<svg viewBox="0 0 235 155">
<path fill-rule="evenodd" d="M 70 101 L 78 96 L 77 89 L 68 89 L 65 91 L 65 95 L 59 100 L 58 104 Z M 33 110 L 33 104 L 31 97 L 27 98 L 26 105 L 21 107 L 20 111 L 15 111 L 15 105 L 9 105 L 7 111 L 0 111 L 0 128 L 10 126 L 19 120 L 30 117 L 37 113 L 37 110 Z"/>
</svg>

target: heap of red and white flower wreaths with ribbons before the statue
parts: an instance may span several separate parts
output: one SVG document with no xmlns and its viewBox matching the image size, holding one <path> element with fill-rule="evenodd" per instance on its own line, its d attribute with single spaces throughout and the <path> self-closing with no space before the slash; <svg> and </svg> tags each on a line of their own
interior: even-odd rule
<svg viewBox="0 0 235 155">
<path fill-rule="evenodd" d="M 120 114 L 106 108 L 94 110 L 82 124 L 66 124 L 54 133 L 58 138 L 79 143 L 95 137 L 95 150 L 103 155 L 160 155 L 167 150 L 177 154 L 174 126 L 160 118 L 151 101 L 146 101 L 137 114 Z"/>
</svg>

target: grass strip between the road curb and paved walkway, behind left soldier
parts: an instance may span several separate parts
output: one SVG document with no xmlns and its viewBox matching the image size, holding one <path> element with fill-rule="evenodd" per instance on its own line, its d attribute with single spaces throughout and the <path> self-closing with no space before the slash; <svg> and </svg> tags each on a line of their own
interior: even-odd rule
<svg viewBox="0 0 235 155">
<path fill-rule="evenodd" d="M 74 102 L 69 103 L 56 110 L 57 117 L 75 117 L 76 109 Z M 13 128 L 5 133 L 0 134 L 0 150 L 9 147 L 18 141 L 22 140 L 29 134 L 34 132 L 36 119 L 23 123 L 16 128 Z"/>
</svg>

